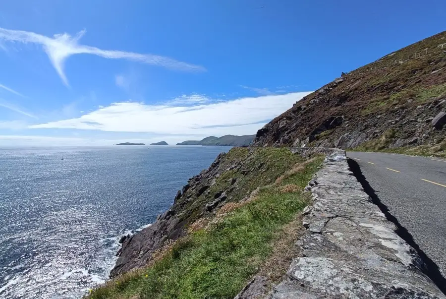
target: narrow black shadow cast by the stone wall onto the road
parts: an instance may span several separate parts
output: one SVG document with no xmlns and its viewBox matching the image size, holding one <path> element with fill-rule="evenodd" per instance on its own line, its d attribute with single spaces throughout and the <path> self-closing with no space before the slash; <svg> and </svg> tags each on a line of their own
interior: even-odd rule
<svg viewBox="0 0 446 299">
<path fill-rule="evenodd" d="M 438 266 L 436 263 L 434 263 L 427 255 L 423 252 L 423 250 L 420 249 L 417 243 L 415 243 L 412 235 L 407 231 L 406 228 L 404 228 L 401 224 L 399 224 L 398 220 L 390 214 L 389 208 L 381 202 L 378 195 L 376 195 L 376 192 L 372 186 L 370 186 L 367 179 L 364 177 L 364 175 L 361 172 L 361 169 L 359 167 L 359 164 L 354 161 L 353 159 L 348 159 L 348 166 L 350 167 L 350 170 L 355 175 L 356 179 L 361 183 L 362 187 L 364 188 L 364 191 L 372 198 L 372 202 L 376 204 L 380 209 L 381 212 L 386 215 L 387 220 L 393 222 L 397 228 L 396 233 L 398 236 L 405 240 L 410 246 L 412 246 L 416 252 L 418 253 L 418 256 L 423 261 L 424 267 L 421 268 L 421 271 L 428 276 L 436 285 L 437 287 L 443 292 L 443 294 L 446 295 L 446 279 L 442 276 L 440 270 L 438 269 Z"/>
</svg>

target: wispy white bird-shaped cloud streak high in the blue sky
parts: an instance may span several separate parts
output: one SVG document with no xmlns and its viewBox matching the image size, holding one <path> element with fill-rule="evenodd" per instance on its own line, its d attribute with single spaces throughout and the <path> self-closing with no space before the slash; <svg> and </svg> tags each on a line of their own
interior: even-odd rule
<svg viewBox="0 0 446 299">
<path fill-rule="evenodd" d="M 0 28 L 0 39 L 42 45 L 50 58 L 51 63 L 66 86 L 69 85 L 68 79 L 63 71 L 64 62 L 68 57 L 75 54 L 92 54 L 108 59 L 125 59 L 185 71 L 206 70 L 204 67 L 199 65 L 194 65 L 159 55 L 138 54 L 115 50 L 101 50 L 96 47 L 79 45 L 78 41 L 84 34 L 85 30 L 82 30 L 74 37 L 67 33 L 63 33 L 55 34 L 54 37 L 51 38 L 34 32 Z"/>
</svg>

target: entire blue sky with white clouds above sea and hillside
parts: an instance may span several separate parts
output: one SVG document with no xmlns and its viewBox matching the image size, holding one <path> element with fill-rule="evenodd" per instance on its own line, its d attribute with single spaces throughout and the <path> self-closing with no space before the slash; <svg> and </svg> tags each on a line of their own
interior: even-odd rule
<svg viewBox="0 0 446 299">
<path fill-rule="evenodd" d="M 445 19 L 441 0 L 1 1 L 0 145 L 255 134 Z"/>
</svg>

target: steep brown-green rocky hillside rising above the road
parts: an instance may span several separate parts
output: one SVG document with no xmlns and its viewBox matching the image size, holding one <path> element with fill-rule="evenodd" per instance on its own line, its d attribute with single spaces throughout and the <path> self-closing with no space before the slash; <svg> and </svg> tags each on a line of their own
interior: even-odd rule
<svg viewBox="0 0 446 299">
<path fill-rule="evenodd" d="M 443 156 L 442 112 L 446 31 L 342 73 L 266 124 L 253 145 L 403 148 Z"/>
</svg>

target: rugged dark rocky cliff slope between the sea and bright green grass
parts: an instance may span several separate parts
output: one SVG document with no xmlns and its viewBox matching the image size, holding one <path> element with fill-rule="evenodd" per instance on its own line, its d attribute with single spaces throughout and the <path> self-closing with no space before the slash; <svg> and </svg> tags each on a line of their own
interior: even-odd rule
<svg viewBox="0 0 446 299">
<path fill-rule="evenodd" d="M 155 251 L 183 236 L 187 227 L 227 202 L 239 202 L 259 186 L 274 182 L 303 158 L 285 148 L 232 148 L 192 177 L 178 191 L 172 207 L 152 226 L 123 238 L 111 277 L 146 265 Z"/>
</svg>

